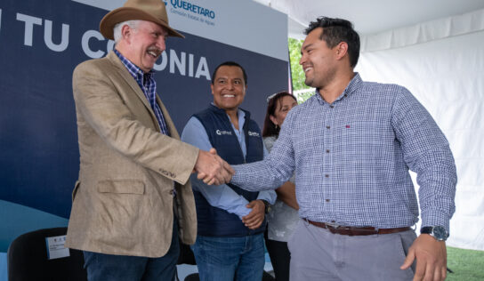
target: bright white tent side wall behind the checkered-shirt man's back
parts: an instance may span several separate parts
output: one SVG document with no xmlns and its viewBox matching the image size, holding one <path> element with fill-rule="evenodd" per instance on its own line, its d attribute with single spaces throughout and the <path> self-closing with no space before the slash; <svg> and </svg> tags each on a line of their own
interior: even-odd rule
<svg viewBox="0 0 484 281">
<path fill-rule="evenodd" d="M 448 245 L 484 250 L 484 10 L 364 41 L 361 76 L 405 85 L 448 138 L 458 176 Z"/>
</svg>

